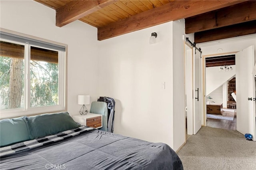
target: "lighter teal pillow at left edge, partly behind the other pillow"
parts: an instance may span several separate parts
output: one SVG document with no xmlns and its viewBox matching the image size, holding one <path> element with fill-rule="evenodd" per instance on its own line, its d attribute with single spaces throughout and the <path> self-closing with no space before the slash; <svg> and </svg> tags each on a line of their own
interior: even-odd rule
<svg viewBox="0 0 256 170">
<path fill-rule="evenodd" d="M 30 140 L 28 129 L 23 117 L 0 120 L 0 146 Z"/>
</svg>

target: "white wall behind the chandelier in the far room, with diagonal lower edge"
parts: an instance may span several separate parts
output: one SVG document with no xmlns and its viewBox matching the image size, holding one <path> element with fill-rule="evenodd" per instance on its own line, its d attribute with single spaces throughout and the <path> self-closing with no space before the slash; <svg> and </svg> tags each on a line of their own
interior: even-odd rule
<svg viewBox="0 0 256 170">
<path fill-rule="evenodd" d="M 226 81 L 236 74 L 236 65 L 231 65 L 231 71 L 219 71 L 220 67 L 206 67 L 206 95 L 222 86 Z"/>
</svg>

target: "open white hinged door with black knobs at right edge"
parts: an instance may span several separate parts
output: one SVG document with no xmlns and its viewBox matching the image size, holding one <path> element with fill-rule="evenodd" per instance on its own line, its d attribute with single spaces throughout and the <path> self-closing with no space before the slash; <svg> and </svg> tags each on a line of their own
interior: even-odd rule
<svg viewBox="0 0 256 170">
<path fill-rule="evenodd" d="M 256 140 L 254 46 L 236 53 L 236 127 L 237 131 L 250 133 Z"/>
</svg>

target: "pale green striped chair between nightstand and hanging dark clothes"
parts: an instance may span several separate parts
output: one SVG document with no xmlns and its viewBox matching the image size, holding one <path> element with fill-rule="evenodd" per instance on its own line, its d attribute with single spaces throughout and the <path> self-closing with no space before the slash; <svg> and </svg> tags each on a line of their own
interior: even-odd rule
<svg viewBox="0 0 256 170">
<path fill-rule="evenodd" d="M 102 115 L 102 128 L 99 130 L 108 131 L 108 105 L 103 101 L 93 101 L 90 113 Z"/>
</svg>

